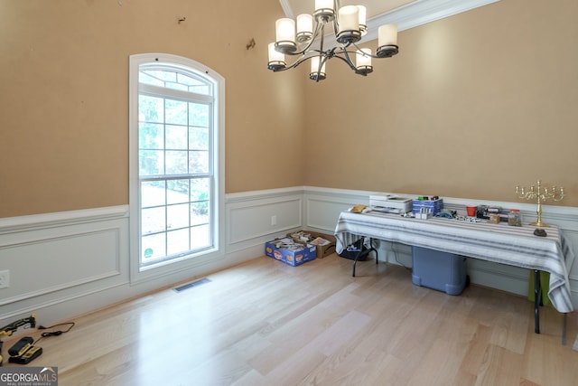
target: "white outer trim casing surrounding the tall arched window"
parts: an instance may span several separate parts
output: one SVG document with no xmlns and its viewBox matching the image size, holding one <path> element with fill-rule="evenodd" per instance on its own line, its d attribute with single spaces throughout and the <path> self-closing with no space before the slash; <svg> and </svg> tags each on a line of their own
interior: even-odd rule
<svg viewBox="0 0 578 386">
<path fill-rule="evenodd" d="M 140 269 L 140 202 L 138 196 L 138 72 L 144 63 L 158 61 L 181 65 L 208 74 L 217 81 L 214 100 L 218 113 L 214 117 L 214 137 L 218 144 L 218 159 L 213 159 L 216 178 L 215 183 L 215 246 L 209 253 L 199 254 L 192 259 L 177 259 L 169 264 L 155 268 Z M 176 272 L 186 272 L 188 268 L 204 265 L 225 256 L 225 78 L 209 67 L 182 56 L 166 53 L 140 53 L 129 57 L 129 224 L 130 224 L 130 282 L 151 280 L 172 275 Z"/>
</svg>

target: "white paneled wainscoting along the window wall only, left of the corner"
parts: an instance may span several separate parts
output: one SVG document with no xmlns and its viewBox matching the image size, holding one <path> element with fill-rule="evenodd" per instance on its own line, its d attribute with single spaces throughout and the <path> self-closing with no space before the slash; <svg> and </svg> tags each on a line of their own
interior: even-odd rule
<svg viewBox="0 0 578 386">
<path fill-rule="evenodd" d="M 36 313 L 70 320 L 127 298 L 200 278 L 264 255 L 265 242 L 303 227 L 303 187 L 226 197 L 221 253 L 184 260 L 131 282 L 127 205 L 0 219 L 0 324 Z"/>
</svg>

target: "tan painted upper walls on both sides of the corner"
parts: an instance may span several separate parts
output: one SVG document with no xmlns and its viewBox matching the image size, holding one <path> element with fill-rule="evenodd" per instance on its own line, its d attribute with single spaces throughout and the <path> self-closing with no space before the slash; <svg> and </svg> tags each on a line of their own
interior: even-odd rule
<svg viewBox="0 0 578 386">
<path fill-rule="evenodd" d="M 576 14 L 573 0 L 502 0 L 400 33 L 367 79 L 330 62 L 315 84 L 266 70 L 276 1 L 0 0 L 0 217 L 128 202 L 128 56 L 142 52 L 226 78 L 228 193 L 511 201 L 542 178 L 578 206 Z"/>
</svg>

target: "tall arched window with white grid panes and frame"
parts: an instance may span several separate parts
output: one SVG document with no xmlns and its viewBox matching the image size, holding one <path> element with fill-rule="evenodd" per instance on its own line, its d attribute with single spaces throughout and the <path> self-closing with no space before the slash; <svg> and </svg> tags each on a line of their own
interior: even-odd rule
<svg viewBox="0 0 578 386">
<path fill-rule="evenodd" d="M 224 80 L 174 55 L 130 59 L 131 249 L 142 271 L 219 250 Z"/>
</svg>

